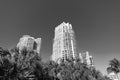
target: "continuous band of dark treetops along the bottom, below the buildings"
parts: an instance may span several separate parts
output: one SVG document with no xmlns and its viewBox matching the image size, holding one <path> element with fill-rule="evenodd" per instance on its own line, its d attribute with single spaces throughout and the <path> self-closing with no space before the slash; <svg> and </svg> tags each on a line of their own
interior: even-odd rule
<svg viewBox="0 0 120 80">
<path fill-rule="evenodd" d="M 57 64 L 41 61 L 34 51 L 0 48 L 0 80 L 109 80 L 79 59 Z"/>
</svg>

